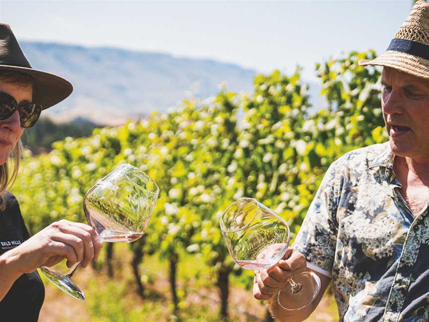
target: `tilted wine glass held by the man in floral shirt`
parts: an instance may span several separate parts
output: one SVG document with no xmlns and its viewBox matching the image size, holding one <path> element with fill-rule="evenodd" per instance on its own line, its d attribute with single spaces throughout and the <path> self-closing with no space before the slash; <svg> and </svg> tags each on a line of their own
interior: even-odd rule
<svg viewBox="0 0 429 322">
<path fill-rule="evenodd" d="M 289 245 L 290 231 L 279 215 L 253 198 L 240 198 L 220 217 L 220 230 L 235 263 L 250 270 L 275 265 Z M 285 310 L 300 310 L 309 305 L 320 291 L 320 278 L 313 272 L 294 274 L 277 294 Z"/>
</svg>

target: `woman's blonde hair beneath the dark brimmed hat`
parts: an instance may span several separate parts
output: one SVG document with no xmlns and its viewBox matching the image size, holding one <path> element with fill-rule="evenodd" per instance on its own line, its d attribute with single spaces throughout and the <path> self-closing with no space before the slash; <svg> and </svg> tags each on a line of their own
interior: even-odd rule
<svg viewBox="0 0 429 322">
<path fill-rule="evenodd" d="M 0 81 L 22 86 L 23 88 L 33 86 L 33 79 L 31 76 L 14 71 L 0 71 Z M 19 159 L 21 158 L 22 152 L 23 146 L 21 139 L 19 139 L 8 160 L 0 165 L 0 211 L 6 208 L 6 203 L 3 198 L 6 189 L 13 185 L 18 176 Z"/>
</svg>

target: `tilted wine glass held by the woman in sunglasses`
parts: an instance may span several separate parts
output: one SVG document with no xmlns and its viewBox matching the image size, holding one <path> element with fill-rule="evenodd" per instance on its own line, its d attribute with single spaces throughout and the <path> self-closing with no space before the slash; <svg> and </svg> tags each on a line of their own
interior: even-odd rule
<svg viewBox="0 0 429 322">
<path fill-rule="evenodd" d="M 88 190 L 83 198 L 86 220 L 103 242 L 134 242 L 146 231 L 158 198 L 159 188 L 150 177 L 131 164 L 122 164 Z M 69 273 L 42 266 L 42 273 L 62 291 L 84 300 L 83 292 Z"/>
</svg>

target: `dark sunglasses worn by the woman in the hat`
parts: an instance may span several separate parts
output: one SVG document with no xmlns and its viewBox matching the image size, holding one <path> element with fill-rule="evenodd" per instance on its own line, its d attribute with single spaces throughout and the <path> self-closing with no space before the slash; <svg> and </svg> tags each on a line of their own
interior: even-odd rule
<svg viewBox="0 0 429 322">
<path fill-rule="evenodd" d="M 35 103 L 22 103 L 18 105 L 13 96 L 0 92 L 0 120 L 8 119 L 15 113 L 19 113 L 21 127 L 32 127 L 39 119 L 42 105 Z"/>
</svg>

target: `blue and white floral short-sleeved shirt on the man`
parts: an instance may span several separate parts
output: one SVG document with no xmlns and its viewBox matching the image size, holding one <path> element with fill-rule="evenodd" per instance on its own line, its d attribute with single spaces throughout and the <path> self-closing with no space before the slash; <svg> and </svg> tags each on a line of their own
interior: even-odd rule
<svg viewBox="0 0 429 322">
<path fill-rule="evenodd" d="M 293 247 L 332 277 L 340 321 L 429 321 L 428 206 L 398 188 L 389 142 L 329 167 Z"/>
</svg>

